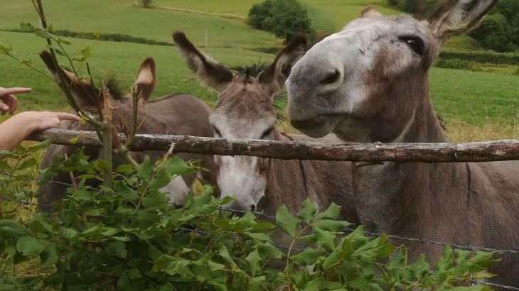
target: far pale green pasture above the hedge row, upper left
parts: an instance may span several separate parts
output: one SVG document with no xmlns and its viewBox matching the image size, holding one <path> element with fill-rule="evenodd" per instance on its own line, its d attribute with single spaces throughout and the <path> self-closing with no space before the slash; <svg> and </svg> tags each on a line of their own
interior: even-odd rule
<svg viewBox="0 0 519 291">
<path fill-rule="evenodd" d="M 133 0 L 47 0 L 44 5 L 48 21 L 56 29 L 123 33 L 170 43 L 172 31 L 181 30 L 198 45 L 204 44 L 207 29 L 210 47 L 255 48 L 281 43 L 270 33 L 250 28 L 240 20 L 139 9 L 133 3 Z M 1 5 L 0 28 L 18 28 L 27 21 L 38 25 L 31 1 L 3 1 Z"/>
</svg>

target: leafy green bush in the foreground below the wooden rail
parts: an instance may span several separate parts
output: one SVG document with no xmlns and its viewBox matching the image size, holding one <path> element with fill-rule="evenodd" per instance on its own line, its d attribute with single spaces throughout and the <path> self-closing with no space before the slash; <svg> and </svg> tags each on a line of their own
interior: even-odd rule
<svg viewBox="0 0 519 291">
<path fill-rule="evenodd" d="M 12 163 L 23 164 L 26 153 L 41 147 L 2 152 L 6 163 L 0 170 L 12 172 Z M 179 158 L 154 165 L 145 158 L 139 168 L 119 167 L 113 189 L 87 187 L 87 177 L 102 177 L 102 163 L 89 163 L 87 158 L 80 149 L 41 171 L 42 177 L 60 170 L 83 174 L 76 178 L 77 188 L 68 190 L 69 197 L 53 204 L 52 214 L 35 211 L 26 219 L 10 219 L 0 204 L 4 289 L 448 289 L 487 278 L 483 270 L 495 262 L 493 253 L 446 247 L 434 265 L 423 255 L 408 263 L 405 247 L 395 251 L 386 236 L 367 237 L 362 227 L 343 233 L 349 224 L 337 220 L 336 204 L 318 212 L 306 200 L 296 216 L 279 207 L 274 226 L 251 213 L 221 212 L 219 206 L 230 199 L 216 199 L 211 187 L 204 186 L 188 195 L 185 207 L 176 208 L 159 189 L 171 177 L 193 171 L 193 163 Z M 287 253 L 274 246 L 272 234 L 278 228 L 291 238 Z M 39 268 L 37 274 L 13 271 L 29 262 Z M 312 273 L 308 265 L 314 265 Z"/>
</svg>

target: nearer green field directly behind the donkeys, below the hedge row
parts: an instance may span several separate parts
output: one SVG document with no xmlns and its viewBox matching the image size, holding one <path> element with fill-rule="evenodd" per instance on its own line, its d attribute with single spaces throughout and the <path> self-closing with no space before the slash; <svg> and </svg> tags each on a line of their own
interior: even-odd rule
<svg viewBox="0 0 519 291">
<path fill-rule="evenodd" d="M 0 39 L 13 46 L 15 55 L 32 58 L 33 64 L 44 70 L 38 57 L 38 53 L 45 48 L 42 38 L 28 33 L 0 32 Z M 193 74 L 174 47 L 77 39 L 72 41 L 69 51 L 73 54 L 86 45 L 92 45 L 90 62 L 97 79 L 114 72 L 121 81 L 122 89 L 126 91 L 142 60 L 151 56 L 157 63 L 157 87 L 153 98 L 177 92 L 193 94 L 208 104 L 213 104 L 217 98 L 215 92 L 200 87 L 193 79 Z M 273 57 L 238 48 L 203 50 L 226 65 L 267 62 Z M 34 89 L 31 94 L 20 96 L 21 111 L 67 107 L 56 85 L 49 79 L 5 55 L 0 55 L 0 64 L 0 84 L 3 87 L 30 86 Z M 519 138 L 519 77 L 432 68 L 429 78 L 434 108 L 446 120 L 453 141 Z M 481 135 L 478 136 L 478 132 Z"/>
</svg>

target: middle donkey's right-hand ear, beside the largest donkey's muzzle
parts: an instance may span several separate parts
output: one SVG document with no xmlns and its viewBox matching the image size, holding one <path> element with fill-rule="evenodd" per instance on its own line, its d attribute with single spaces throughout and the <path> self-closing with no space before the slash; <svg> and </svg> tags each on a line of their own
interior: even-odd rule
<svg viewBox="0 0 519 291">
<path fill-rule="evenodd" d="M 303 57 L 306 50 L 306 37 L 294 35 L 290 43 L 276 56 L 258 79 L 260 83 L 269 86 L 271 93 L 279 91 L 290 75 L 290 70 Z"/>
</svg>

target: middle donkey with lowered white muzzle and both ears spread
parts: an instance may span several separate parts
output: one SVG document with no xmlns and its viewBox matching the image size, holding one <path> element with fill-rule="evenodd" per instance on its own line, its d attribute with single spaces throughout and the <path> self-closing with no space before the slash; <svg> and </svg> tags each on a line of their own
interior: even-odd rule
<svg viewBox="0 0 519 291">
<path fill-rule="evenodd" d="M 282 88 L 291 66 L 304 55 L 306 38 L 294 38 L 267 67 L 259 70 L 245 68 L 242 74 L 233 74 L 200 53 L 183 33 L 174 33 L 173 40 L 200 82 L 220 93 L 209 119 L 215 137 L 313 140 L 279 133 L 274 111 L 274 93 Z M 296 213 L 304 199 L 309 197 L 321 209 L 331 202 L 342 205 L 343 219 L 357 222 L 351 199 L 351 180 L 343 173 L 350 165 L 344 162 L 215 156 L 220 191 L 235 198 L 227 205 L 229 208 L 249 211 L 256 210 L 259 205 L 260 210 L 267 214 L 275 214 L 277 207 L 285 204 L 290 212 Z"/>
</svg>

